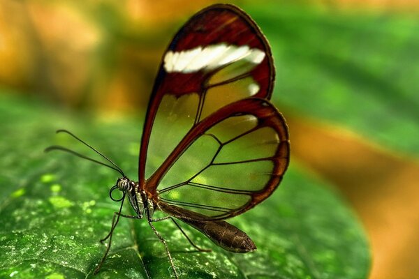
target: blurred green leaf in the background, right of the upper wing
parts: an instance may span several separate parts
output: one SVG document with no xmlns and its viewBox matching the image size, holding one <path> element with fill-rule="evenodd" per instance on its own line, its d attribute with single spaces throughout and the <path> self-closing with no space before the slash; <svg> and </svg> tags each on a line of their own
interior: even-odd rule
<svg viewBox="0 0 419 279">
<path fill-rule="evenodd" d="M 272 45 L 274 101 L 419 156 L 419 20 L 277 1 L 243 7 Z"/>
</svg>

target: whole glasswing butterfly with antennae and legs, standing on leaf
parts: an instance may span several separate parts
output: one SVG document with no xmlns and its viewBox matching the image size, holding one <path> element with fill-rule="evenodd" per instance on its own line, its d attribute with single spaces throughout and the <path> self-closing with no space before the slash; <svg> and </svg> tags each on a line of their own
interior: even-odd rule
<svg viewBox="0 0 419 279">
<path fill-rule="evenodd" d="M 179 29 L 157 74 L 140 144 L 138 182 L 96 149 L 112 165 L 67 151 L 117 170 L 122 177 L 110 189 L 121 202 L 119 217 L 145 218 L 161 240 L 175 278 L 166 241 L 153 223 L 172 220 L 197 250 L 177 220 L 191 225 L 231 252 L 256 250 L 253 241 L 224 219 L 237 216 L 269 197 L 288 167 L 290 144 L 283 116 L 270 103 L 274 63 L 265 36 L 236 6 L 216 4 L 193 15 Z M 122 191 L 120 199 L 112 197 Z M 128 197 L 135 216 L 121 213 Z M 154 211 L 167 216 L 153 218 Z"/>
</svg>

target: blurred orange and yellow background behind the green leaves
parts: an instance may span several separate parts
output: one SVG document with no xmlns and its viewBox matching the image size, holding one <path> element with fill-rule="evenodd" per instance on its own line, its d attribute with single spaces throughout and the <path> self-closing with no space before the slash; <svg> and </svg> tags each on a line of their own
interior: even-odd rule
<svg viewBox="0 0 419 279">
<path fill-rule="evenodd" d="M 147 105 L 161 54 L 179 24 L 215 2 L 1 1 L 0 85 L 75 110 L 135 113 Z M 419 8 L 414 0 L 301 5 L 351 13 Z M 285 115 L 293 160 L 337 186 L 360 216 L 372 245 L 370 278 L 419 278 L 418 160 L 351 130 Z M 310 148 L 313 142 L 318 149 Z"/>
</svg>

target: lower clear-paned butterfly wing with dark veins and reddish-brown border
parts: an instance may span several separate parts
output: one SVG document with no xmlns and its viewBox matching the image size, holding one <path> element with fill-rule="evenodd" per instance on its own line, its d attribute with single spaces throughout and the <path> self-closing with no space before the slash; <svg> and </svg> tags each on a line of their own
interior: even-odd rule
<svg viewBox="0 0 419 279">
<path fill-rule="evenodd" d="M 283 117 L 269 101 L 248 98 L 200 121 L 147 185 L 158 186 L 158 204 L 223 219 L 271 195 L 288 162 Z"/>
</svg>

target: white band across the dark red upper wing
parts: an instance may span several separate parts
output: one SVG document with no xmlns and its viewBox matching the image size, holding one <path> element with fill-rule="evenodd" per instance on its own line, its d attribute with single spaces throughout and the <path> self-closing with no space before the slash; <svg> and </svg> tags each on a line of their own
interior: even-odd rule
<svg viewBox="0 0 419 279">
<path fill-rule="evenodd" d="M 246 61 L 258 64 L 265 58 L 265 52 L 247 45 L 207 45 L 191 50 L 172 52 L 164 56 L 164 69 L 168 73 L 195 73 L 199 70 L 214 70 L 235 61 Z"/>
</svg>

